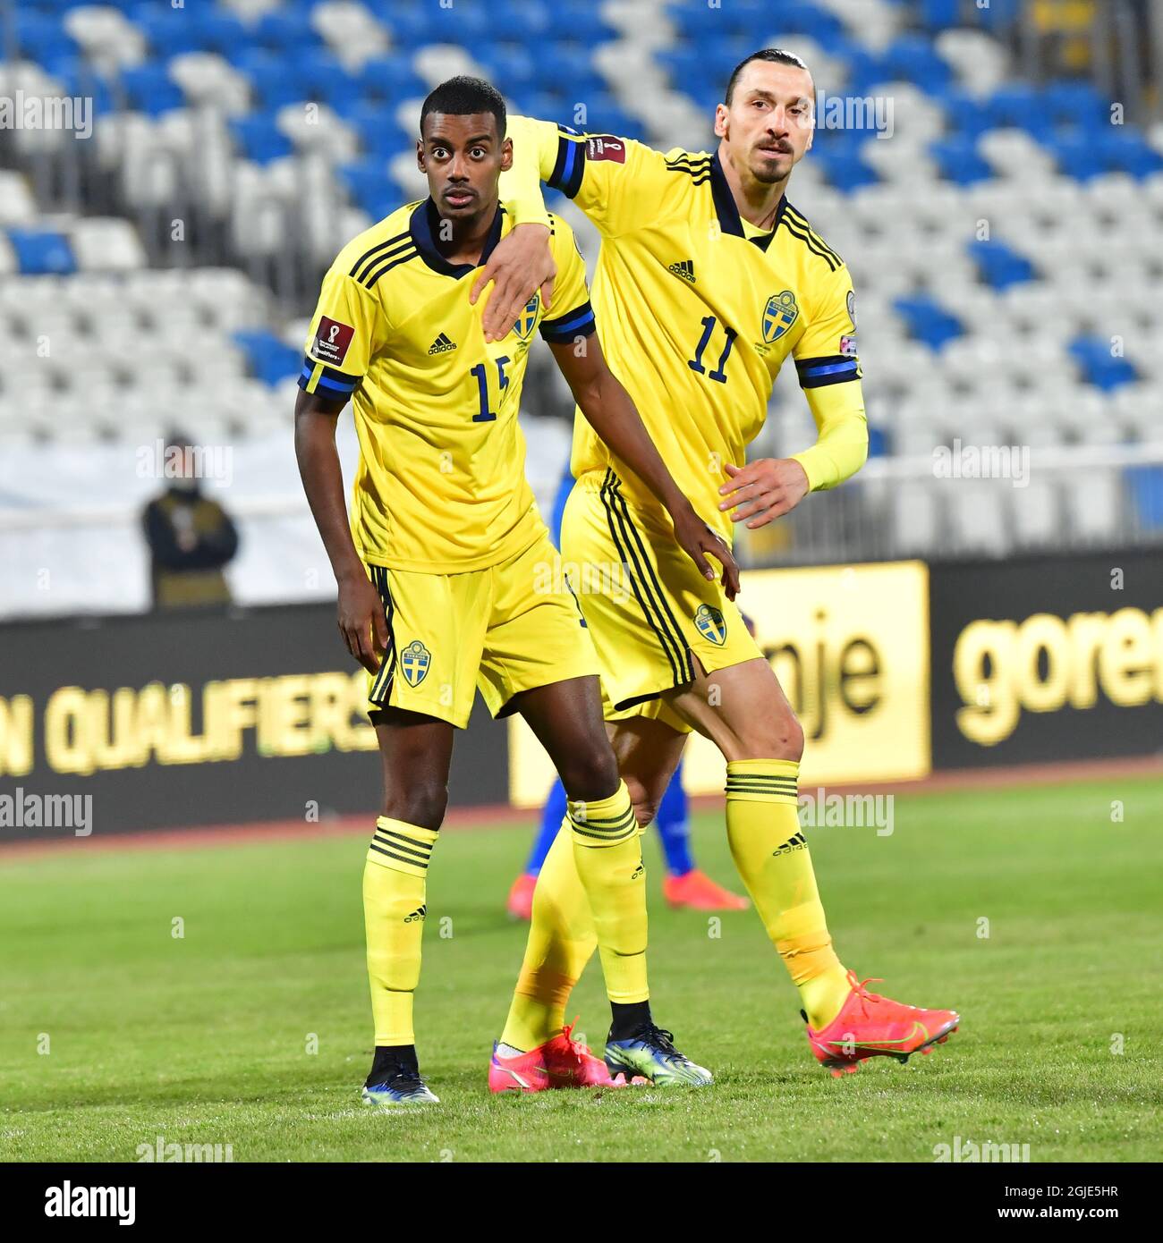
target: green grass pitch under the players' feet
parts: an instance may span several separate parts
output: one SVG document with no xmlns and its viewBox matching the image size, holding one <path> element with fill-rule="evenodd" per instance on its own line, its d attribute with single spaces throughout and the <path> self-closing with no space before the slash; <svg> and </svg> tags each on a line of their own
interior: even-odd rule
<svg viewBox="0 0 1163 1243">
<path fill-rule="evenodd" d="M 362 837 L 0 856 L 0 1158 L 133 1161 L 162 1136 L 235 1161 L 933 1161 L 957 1137 L 1159 1160 L 1161 823 L 1163 784 L 1118 778 L 901 796 L 888 837 L 810 830 L 842 958 L 961 1013 L 930 1057 L 838 1080 L 755 914 L 715 929 L 662 904 L 652 830 L 656 1018 L 716 1083 L 530 1098 L 485 1086 L 529 830 L 450 830 L 417 998 L 443 1104 L 388 1116 L 358 1100 Z M 695 844 L 735 879 L 718 815 L 697 817 Z M 600 1047 L 596 958 L 572 1009 Z"/>
</svg>

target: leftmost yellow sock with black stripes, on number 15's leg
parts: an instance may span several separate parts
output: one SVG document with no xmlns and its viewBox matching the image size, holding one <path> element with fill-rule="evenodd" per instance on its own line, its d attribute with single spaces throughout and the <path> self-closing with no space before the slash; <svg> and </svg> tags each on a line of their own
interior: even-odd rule
<svg viewBox="0 0 1163 1243">
<path fill-rule="evenodd" d="M 434 829 L 381 815 L 363 865 L 367 975 L 376 1044 L 415 1044 L 412 1001 L 420 978 L 424 878 Z"/>
</svg>

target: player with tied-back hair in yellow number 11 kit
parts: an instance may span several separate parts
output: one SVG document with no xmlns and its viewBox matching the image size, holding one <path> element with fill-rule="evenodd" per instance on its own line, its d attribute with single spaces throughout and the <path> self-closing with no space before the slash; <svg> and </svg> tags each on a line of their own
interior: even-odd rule
<svg viewBox="0 0 1163 1243">
<path fill-rule="evenodd" d="M 720 511 L 728 539 L 733 523 L 761 527 L 807 492 L 836 487 L 867 454 L 848 270 L 785 193 L 811 145 L 813 98 L 804 62 L 769 48 L 731 75 L 711 153 L 663 155 L 616 135 L 512 118 L 501 193 L 521 226 L 473 291 L 495 281 L 484 324 L 506 323 L 514 298 L 552 273 L 539 183 L 568 195 L 601 232 L 593 306 L 611 368 L 683 491 L 697 508 Z M 789 358 L 818 439 L 791 457 L 745 464 Z M 653 815 L 687 733 L 709 737 L 726 761 L 731 854 L 799 988 L 816 1058 L 841 1074 L 873 1054 L 907 1058 L 947 1039 L 954 1012 L 869 993 L 841 965 L 797 823 L 804 732 L 730 593 L 692 572 L 663 508 L 583 415 L 561 548 L 582 567 L 621 561 L 633 584 L 628 598 L 587 594 L 582 610 L 639 823 Z M 535 906 L 531 956 L 551 940 Z M 592 935 L 571 930 L 558 951 L 566 978 L 578 977 L 592 946 Z M 541 998 L 546 1029 L 560 994 Z M 516 1004 L 536 1034 L 529 998 Z"/>
</svg>

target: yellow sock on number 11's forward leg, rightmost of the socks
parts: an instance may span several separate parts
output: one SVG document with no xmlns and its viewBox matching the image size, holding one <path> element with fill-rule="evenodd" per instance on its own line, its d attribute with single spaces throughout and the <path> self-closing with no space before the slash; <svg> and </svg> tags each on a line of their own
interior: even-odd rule
<svg viewBox="0 0 1163 1243">
<path fill-rule="evenodd" d="M 818 1030 L 848 996 L 832 948 L 807 843 L 800 832 L 795 759 L 726 766 L 726 837 L 735 866 L 784 960 L 807 1021 Z"/>
</svg>

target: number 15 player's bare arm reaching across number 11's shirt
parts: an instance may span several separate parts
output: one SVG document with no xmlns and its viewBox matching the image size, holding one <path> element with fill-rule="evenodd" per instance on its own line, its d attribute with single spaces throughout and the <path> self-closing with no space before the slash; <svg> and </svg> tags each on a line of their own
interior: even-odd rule
<svg viewBox="0 0 1163 1243">
<path fill-rule="evenodd" d="M 551 342 L 550 349 L 590 426 L 665 506 L 674 523 L 674 538 L 699 573 L 711 582 L 715 578 L 708 554 L 721 564 L 726 597 L 735 599 L 739 593 L 735 558 L 674 482 L 629 394 L 607 365 L 597 336 L 585 337 L 576 344 Z"/>
</svg>

